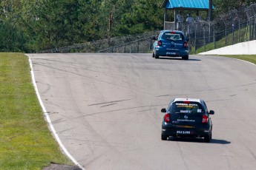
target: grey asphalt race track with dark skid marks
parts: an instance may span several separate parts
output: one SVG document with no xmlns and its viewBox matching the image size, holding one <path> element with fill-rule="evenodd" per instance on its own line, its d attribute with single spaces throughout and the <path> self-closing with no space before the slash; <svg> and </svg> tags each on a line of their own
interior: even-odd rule
<svg viewBox="0 0 256 170">
<path fill-rule="evenodd" d="M 230 58 L 27 54 L 59 138 L 85 169 L 256 169 L 256 66 Z M 202 98 L 213 139 L 162 141 L 171 98 Z"/>
</svg>

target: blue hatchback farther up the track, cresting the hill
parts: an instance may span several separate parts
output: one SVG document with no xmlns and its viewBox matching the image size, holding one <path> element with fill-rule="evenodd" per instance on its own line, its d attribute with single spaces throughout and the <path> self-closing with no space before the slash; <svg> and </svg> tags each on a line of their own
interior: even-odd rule
<svg viewBox="0 0 256 170">
<path fill-rule="evenodd" d="M 153 37 L 153 58 L 160 56 L 182 57 L 188 60 L 188 38 L 182 31 L 162 30 L 158 37 Z"/>
</svg>

